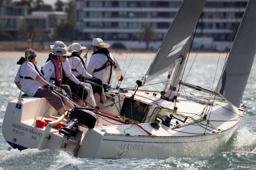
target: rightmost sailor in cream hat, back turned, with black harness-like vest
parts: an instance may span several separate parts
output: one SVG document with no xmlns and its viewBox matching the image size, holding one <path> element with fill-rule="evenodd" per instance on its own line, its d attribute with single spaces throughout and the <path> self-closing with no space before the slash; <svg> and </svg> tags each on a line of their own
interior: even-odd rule
<svg viewBox="0 0 256 170">
<path fill-rule="evenodd" d="M 94 38 L 91 45 L 93 54 L 87 66 L 88 73 L 110 86 L 113 82 L 112 73 L 115 71 L 117 80 L 122 81 L 121 69 L 114 55 L 109 53 L 109 44 L 100 38 Z"/>
</svg>

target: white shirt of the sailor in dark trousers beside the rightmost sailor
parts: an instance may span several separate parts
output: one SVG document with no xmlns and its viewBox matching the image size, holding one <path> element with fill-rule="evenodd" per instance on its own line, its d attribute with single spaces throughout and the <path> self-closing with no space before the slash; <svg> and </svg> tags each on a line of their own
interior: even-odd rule
<svg viewBox="0 0 256 170">
<path fill-rule="evenodd" d="M 81 74 L 84 78 L 92 79 L 92 75 L 85 70 L 84 65 L 81 62 L 80 58 L 73 56 L 68 58 L 68 61 L 71 69 L 77 70 L 77 71 L 72 71 L 75 77 Z"/>
</svg>

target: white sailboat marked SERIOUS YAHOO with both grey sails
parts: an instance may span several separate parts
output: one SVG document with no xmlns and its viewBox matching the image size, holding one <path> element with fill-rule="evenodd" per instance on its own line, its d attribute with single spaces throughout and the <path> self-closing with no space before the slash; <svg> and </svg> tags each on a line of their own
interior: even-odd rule
<svg viewBox="0 0 256 170">
<path fill-rule="evenodd" d="M 111 88 L 115 102 L 59 116 L 44 98 L 9 101 L 5 140 L 19 150 L 67 150 L 79 158 L 197 158 L 220 152 L 245 113 L 244 89 L 256 52 L 256 2 L 250 0 L 214 91 L 182 81 L 206 0 L 184 0 L 161 47 L 134 89 Z M 169 70 L 166 91 L 141 90 Z M 185 95 L 181 88 L 204 95 Z"/>
</svg>

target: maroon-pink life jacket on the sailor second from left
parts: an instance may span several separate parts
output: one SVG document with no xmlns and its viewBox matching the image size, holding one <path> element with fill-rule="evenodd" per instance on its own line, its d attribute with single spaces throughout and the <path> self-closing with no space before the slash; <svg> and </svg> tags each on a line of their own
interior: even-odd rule
<svg viewBox="0 0 256 170">
<path fill-rule="evenodd" d="M 52 54 L 52 53 L 50 53 L 50 54 Z M 54 69 L 55 69 L 55 78 L 50 77 L 50 80 L 54 80 L 56 83 L 61 84 L 61 82 L 62 82 L 62 75 L 63 75 L 62 63 L 59 64 L 57 58 L 56 57 L 52 57 L 52 55 L 49 58 L 52 61 L 53 65 L 54 65 Z M 48 60 L 48 61 L 50 61 L 50 60 Z M 41 68 L 41 73 L 44 75 L 43 67 Z"/>
</svg>

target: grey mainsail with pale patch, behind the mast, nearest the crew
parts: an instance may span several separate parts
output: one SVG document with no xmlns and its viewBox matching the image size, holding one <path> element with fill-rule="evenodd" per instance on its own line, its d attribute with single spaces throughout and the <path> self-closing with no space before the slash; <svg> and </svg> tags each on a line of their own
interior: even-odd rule
<svg viewBox="0 0 256 170">
<path fill-rule="evenodd" d="M 182 2 L 161 47 L 145 74 L 145 83 L 169 70 L 170 65 L 180 56 L 187 55 L 192 34 L 205 2 L 206 0 L 184 0 Z"/>
</svg>

